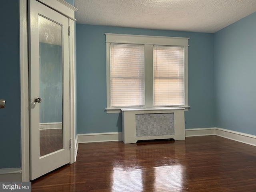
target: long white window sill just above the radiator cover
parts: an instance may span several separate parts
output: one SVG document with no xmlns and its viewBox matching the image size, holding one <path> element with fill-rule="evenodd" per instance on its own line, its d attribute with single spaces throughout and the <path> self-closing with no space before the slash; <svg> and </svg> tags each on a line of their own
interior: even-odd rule
<svg viewBox="0 0 256 192">
<path fill-rule="evenodd" d="M 188 111 L 190 106 L 182 107 L 152 107 L 152 108 L 106 108 L 107 113 L 121 113 L 122 111 L 146 111 L 146 110 L 184 110 Z"/>
</svg>

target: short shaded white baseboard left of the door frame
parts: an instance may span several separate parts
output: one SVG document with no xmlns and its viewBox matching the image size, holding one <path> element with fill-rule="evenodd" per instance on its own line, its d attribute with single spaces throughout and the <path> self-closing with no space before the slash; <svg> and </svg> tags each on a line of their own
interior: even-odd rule
<svg viewBox="0 0 256 192">
<path fill-rule="evenodd" d="M 2 181 L 2 182 L 22 181 L 21 168 L 0 169 L 0 181 Z"/>
</svg>

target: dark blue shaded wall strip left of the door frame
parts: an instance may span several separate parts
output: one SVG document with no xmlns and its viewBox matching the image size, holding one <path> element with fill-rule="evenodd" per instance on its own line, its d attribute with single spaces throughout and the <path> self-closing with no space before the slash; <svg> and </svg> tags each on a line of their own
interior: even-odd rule
<svg viewBox="0 0 256 192">
<path fill-rule="evenodd" d="M 20 64 L 18 0 L 0 7 L 0 168 L 20 167 Z"/>
</svg>

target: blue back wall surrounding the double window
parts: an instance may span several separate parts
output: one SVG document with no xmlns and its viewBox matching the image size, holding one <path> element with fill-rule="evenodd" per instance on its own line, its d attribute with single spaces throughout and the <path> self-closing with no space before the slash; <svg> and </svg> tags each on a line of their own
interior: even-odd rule
<svg viewBox="0 0 256 192">
<path fill-rule="evenodd" d="M 214 127 L 213 34 L 76 25 L 77 132 L 122 131 L 121 115 L 106 114 L 106 44 L 104 33 L 190 37 L 186 128 Z"/>
</svg>

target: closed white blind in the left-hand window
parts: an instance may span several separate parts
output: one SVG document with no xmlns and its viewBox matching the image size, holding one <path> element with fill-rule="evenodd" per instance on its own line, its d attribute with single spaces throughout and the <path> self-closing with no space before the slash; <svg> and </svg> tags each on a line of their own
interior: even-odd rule
<svg viewBox="0 0 256 192">
<path fill-rule="evenodd" d="M 111 107 L 144 106 L 144 45 L 110 44 Z"/>
</svg>

